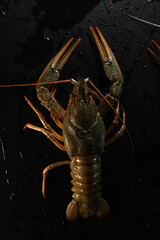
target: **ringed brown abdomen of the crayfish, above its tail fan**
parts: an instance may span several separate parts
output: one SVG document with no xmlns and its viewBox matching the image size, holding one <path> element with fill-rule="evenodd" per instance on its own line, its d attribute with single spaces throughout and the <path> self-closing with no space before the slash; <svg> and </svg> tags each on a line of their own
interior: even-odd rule
<svg viewBox="0 0 160 240">
<path fill-rule="evenodd" d="M 90 156 L 71 159 L 73 198 L 84 204 L 95 202 L 101 190 L 101 158 Z"/>
</svg>

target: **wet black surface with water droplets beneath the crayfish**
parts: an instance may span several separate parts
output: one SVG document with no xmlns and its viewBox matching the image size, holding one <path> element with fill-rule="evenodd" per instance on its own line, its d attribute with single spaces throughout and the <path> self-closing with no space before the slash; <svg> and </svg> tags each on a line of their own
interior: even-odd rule
<svg viewBox="0 0 160 240">
<path fill-rule="evenodd" d="M 76 3 L 75 3 L 76 2 Z M 71 200 L 68 166 L 47 176 L 42 198 L 42 171 L 50 163 L 68 160 L 45 136 L 23 126 L 41 126 L 24 96 L 52 122 L 34 87 L 0 89 L 0 234 L 1 239 L 159 239 L 160 69 L 146 51 L 160 42 L 160 29 L 132 20 L 124 12 L 160 24 L 159 1 L 1 1 L 1 84 L 36 82 L 43 68 L 72 36 L 82 41 L 64 67 L 61 79 L 90 77 L 107 92 L 89 26 L 98 26 L 112 48 L 125 85 L 121 103 L 134 143 L 134 167 L 127 134 L 102 156 L 103 196 L 111 206 L 107 219 L 65 217 Z M 62 8 L 62 5 L 65 6 Z M 58 88 L 66 106 L 69 85 Z M 108 113 L 109 117 L 111 113 Z M 56 129 L 56 127 L 53 125 Z"/>
</svg>

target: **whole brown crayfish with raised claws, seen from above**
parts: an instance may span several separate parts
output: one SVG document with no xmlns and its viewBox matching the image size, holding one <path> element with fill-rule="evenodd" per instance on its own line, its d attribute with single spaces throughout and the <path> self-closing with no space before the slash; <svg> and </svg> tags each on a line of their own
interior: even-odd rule
<svg viewBox="0 0 160 240">
<path fill-rule="evenodd" d="M 45 197 L 47 172 L 57 166 L 70 164 L 73 199 L 66 211 L 69 220 L 75 220 L 78 217 L 106 217 L 109 214 L 110 207 L 101 195 L 101 154 L 104 151 L 104 147 L 117 140 L 125 130 L 125 112 L 122 109 L 123 119 L 120 130 L 108 138 L 108 140 L 105 140 L 106 136 L 108 137 L 112 133 L 119 119 L 121 119 L 119 117 L 119 106 L 124 81 L 114 54 L 102 33 L 98 28 L 96 28 L 97 33 L 92 27 L 90 27 L 90 30 L 100 53 L 105 74 L 111 82 L 109 93 L 105 95 L 108 103 L 88 87 L 88 82 L 91 83 L 89 78 L 78 78 L 77 81 L 71 79 L 74 87 L 66 110 L 55 99 L 56 88 L 53 83 L 58 81 L 60 71 L 81 40 L 78 39 L 67 50 L 73 38 L 48 63 L 36 87 L 37 96 L 41 104 L 50 111 L 53 121 L 62 129 L 62 135 L 52 129 L 45 121 L 43 115 L 26 98 L 28 104 L 38 115 L 44 128 L 30 123 L 26 124 L 25 128 L 42 132 L 58 148 L 66 151 L 70 158 L 70 161 L 61 161 L 47 166 L 43 171 L 42 182 L 42 193 Z M 46 85 L 46 82 L 51 84 Z M 94 98 L 99 100 L 98 106 Z M 102 117 L 114 107 L 115 117 L 107 130 L 105 130 Z"/>
</svg>

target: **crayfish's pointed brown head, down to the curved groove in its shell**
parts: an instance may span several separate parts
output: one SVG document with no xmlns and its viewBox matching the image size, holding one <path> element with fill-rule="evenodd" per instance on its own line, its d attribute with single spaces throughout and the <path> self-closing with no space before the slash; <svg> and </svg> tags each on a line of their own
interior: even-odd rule
<svg viewBox="0 0 160 240">
<path fill-rule="evenodd" d="M 85 79 L 75 83 L 67 107 L 67 117 L 78 128 L 87 130 L 96 122 L 97 106 Z"/>
</svg>

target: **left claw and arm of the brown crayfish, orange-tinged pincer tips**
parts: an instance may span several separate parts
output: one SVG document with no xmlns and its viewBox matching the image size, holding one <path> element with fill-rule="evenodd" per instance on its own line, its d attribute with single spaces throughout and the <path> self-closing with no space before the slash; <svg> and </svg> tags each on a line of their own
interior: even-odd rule
<svg viewBox="0 0 160 240">
<path fill-rule="evenodd" d="M 54 58 L 47 64 L 43 70 L 41 76 L 38 79 L 39 85 L 36 86 L 37 97 L 41 101 L 41 104 L 46 107 L 50 112 L 51 116 L 55 116 L 58 119 L 63 120 L 65 116 L 65 110 L 54 98 L 56 90 L 50 91 L 53 82 L 57 81 L 60 77 L 60 72 L 64 67 L 65 63 L 73 53 L 76 46 L 79 44 L 81 39 L 79 38 L 69 49 L 69 45 L 74 38 L 71 38 L 61 50 L 54 56 Z M 43 83 L 52 82 L 49 85 L 43 85 Z M 40 84 L 42 83 L 42 84 Z M 54 118 L 55 119 L 55 118 Z"/>
</svg>

